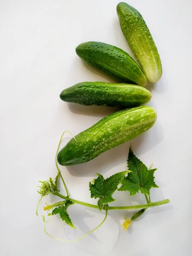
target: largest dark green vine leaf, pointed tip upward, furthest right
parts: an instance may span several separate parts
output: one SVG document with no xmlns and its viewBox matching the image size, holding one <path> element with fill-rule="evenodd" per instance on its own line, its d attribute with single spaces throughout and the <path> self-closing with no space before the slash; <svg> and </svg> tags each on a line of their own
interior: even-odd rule
<svg viewBox="0 0 192 256">
<path fill-rule="evenodd" d="M 154 172 L 157 169 L 148 169 L 144 163 L 138 159 L 131 147 L 129 148 L 128 155 L 128 169 L 131 171 L 127 177 L 122 179 L 122 186 L 118 189 L 119 191 L 129 191 L 130 195 L 135 195 L 137 192 L 143 194 L 149 194 L 149 190 L 158 188 L 154 182 Z"/>
</svg>

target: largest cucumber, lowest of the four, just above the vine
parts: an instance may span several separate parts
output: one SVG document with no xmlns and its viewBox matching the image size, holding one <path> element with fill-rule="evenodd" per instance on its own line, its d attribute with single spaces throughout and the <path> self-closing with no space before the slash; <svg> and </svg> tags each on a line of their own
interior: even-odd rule
<svg viewBox="0 0 192 256">
<path fill-rule="evenodd" d="M 92 127 L 79 133 L 58 153 L 63 166 L 86 163 L 103 152 L 143 134 L 157 119 L 156 111 L 148 106 L 128 108 L 112 113 Z"/>
</svg>

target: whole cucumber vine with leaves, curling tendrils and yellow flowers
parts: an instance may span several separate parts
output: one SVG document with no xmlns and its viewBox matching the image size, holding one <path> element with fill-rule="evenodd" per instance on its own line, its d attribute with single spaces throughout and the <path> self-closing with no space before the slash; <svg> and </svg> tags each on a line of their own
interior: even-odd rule
<svg viewBox="0 0 192 256">
<path fill-rule="evenodd" d="M 154 172 L 157 169 L 152 169 L 153 164 L 151 164 L 151 166 L 149 168 L 147 168 L 134 155 L 133 151 L 131 150 L 131 147 L 129 149 L 129 154 L 128 154 L 128 160 L 127 160 L 128 170 L 127 171 L 118 172 L 106 179 L 103 177 L 103 175 L 98 173 L 97 174 L 98 177 L 89 183 L 90 196 L 91 196 L 91 198 L 98 198 L 97 205 L 88 204 L 88 203 L 70 198 L 67 186 L 64 182 L 64 178 L 61 175 L 61 172 L 60 172 L 60 169 L 58 168 L 58 163 L 57 163 L 57 154 L 59 151 L 61 140 L 66 132 L 69 132 L 69 131 L 65 131 L 62 134 L 61 139 L 59 140 L 57 151 L 56 151 L 55 165 L 58 170 L 56 177 L 54 179 L 52 179 L 50 177 L 49 180 L 46 180 L 46 181 L 39 181 L 41 183 L 41 186 L 39 186 L 38 193 L 41 195 L 41 198 L 38 202 L 37 209 L 36 209 L 37 216 L 38 216 L 38 207 L 39 207 L 39 204 L 40 204 L 42 198 L 46 197 L 49 194 L 52 194 L 52 195 L 55 195 L 55 196 L 63 199 L 62 201 L 58 201 L 55 204 L 51 204 L 51 205 L 46 204 L 46 206 L 44 207 L 44 211 L 47 211 L 47 215 L 49 216 L 49 219 L 48 219 L 48 221 L 45 221 L 45 217 L 44 217 L 44 215 L 42 215 L 42 220 L 44 222 L 44 232 L 48 236 L 50 236 L 51 238 L 60 240 L 60 241 L 65 241 L 65 242 L 79 241 L 79 240 L 85 238 L 86 236 L 88 236 L 90 233 L 92 233 L 96 229 L 98 229 L 105 222 L 105 220 L 108 216 L 108 211 L 125 210 L 125 209 L 127 209 L 127 210 L 140 209 L 131 217 L 131 219 L 125 218 L 125 221 L 123 222 L 122 227 L 124 227 L 124 230 L 127 230 L 128 227 L 131 225 L 131 222 L 135 221 L 137 218 L 139 218 L 141 215 L 143 215 L 143 213 L 148 208 L 169 203 L 169 199 L 151 202 L 150 189 L 152 187 L 158 188 L 158 186 L 154 182 Z M 66 191 L 66 195 L 60 194 L 60 191 L 58 189 L 59 178 L 61 178 L 61 180 L 62 180 L 62 183 L 63 183 L 65 191 Z M 120 185 L 120 187 L 119 187 L 119 185 Z M 111 207 L 111 206 L 109 206 L 109 204 L 116 200 L 112 197 L 113 193 L 116 190 L 117 191 L 128 191 L 128 192 L 130 192 L 131 196 L 135 195 L 138 192 L 141 192 L 145 196 L 146 204 Z M 90 232 L 88 232 L 87 234 L 85 234 L 84 236 L 82 236 L 79 239 L 63 240 L 63 239 L 58 239 L 58 238 L 55 238 L 55 237 L 49 235 L 46 231 L 45 224 L 50 221 L 52 215 L 58 214 L 62 221 L 64 221 L 70 227 L 76 228 L 76 227 L 74 227 L 72 220 L 70 219 L 70 216 L 67 212 L 67 208 L 73 204 L 81 204 L 85 207 L 99 209 L 100 211 L 104 210 L 105 218 L 96 228 L 94 228 L 93 230 L 91 230 Z"/>
</svg>

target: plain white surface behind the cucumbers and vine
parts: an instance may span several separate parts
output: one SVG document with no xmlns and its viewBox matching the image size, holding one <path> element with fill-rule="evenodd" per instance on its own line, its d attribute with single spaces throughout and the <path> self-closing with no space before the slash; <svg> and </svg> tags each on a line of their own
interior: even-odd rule
<svg viewBox="0 0 192 256">
<path fill-rule="evenodd" d="M 131 54 L 116 15 L 118 0 L 0 1 L 0 255 L 1 256 L 189 256 L 192 250 L 192 1 L 129 0 L 142 13 L 163 64 L 163 77 L 152 87 L 149 103 L 158 121 L 132 142 L 148 166 L 158 168 L 159 189 L 153 201 L 171 204 L 148 210 L 130 230 L 121 227 L 130 212 L 109 212 L 105 224 L 86 239 L 69 244 L 43 232 L 35 207 L 38 180 L 55 177 L 55 150 L 61 133 L 90 127 L 112 108 L 67 104 L 61 90 L 81 81 L 112 81 L 84 65 L 75 48 L 84 41 L 103 41 Z M 132 54 L 131 54 L 132 55 Z M 63 145 L 70 136 L 66 136 Z M 109 175 L 126 167 L 129 143 L 89 163 L 61 167 L 70 195 L 90 199 L 88 182 L 100 172 Z M 144 203 L 116 192 L 113 205 Z M 47 197 L 49 203 L 49 197 Z M 70 208 L 77 230 L 57 217 L 49 233 L 75 239 L 93 229 L 104 213 L 80 206 Z"/>
</svg>

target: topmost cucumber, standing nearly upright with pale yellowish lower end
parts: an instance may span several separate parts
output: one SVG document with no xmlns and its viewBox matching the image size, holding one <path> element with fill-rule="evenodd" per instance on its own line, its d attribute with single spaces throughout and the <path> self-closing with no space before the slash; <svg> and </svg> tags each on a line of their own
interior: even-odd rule
<svg viewBox="0 0 192 256">
<path fill-rule="evenodd" d="M 148 81 L 155 83 L 162 76 L 157 47 L 142 15 L 127 3 L 116 7 L 122 32 Z"/>
</svg>

